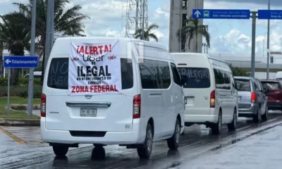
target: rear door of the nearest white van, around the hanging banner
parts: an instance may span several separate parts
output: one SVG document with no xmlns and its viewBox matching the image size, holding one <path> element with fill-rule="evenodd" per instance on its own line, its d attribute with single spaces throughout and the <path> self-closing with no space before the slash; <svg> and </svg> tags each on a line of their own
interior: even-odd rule
<svg viewBox="0 0 282 169">
<path fill-rule="evenodd" d="M 52 58 L 47 65 L 43 93 L 46 95 L 47 130 L 132 130 L 133 97 L 137 94 L 135 65 L 121 58 L 121 94 L 71 96 L 68 94 L 68 56 Z M 135 83 L 134 83 L 134 82 Z"/>
</svg>

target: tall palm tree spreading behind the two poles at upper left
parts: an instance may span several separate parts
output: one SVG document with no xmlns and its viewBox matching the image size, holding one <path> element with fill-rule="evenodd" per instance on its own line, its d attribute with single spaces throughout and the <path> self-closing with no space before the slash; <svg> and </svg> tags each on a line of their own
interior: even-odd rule
<svg viewBox="0 0 282 169">
<path fill-rule="evenodd" d="M 65 9 L 66 5 L 70 4 L 68 0 L 54 0 L 54 32 L 66 32 L 70 30 L 80 30 L 85 25 L 82 24 L 82 20 L 90 19 L 89 16 L 80 13 L 82 6 L 75 5 L 71 8 Z M 29 0 L 28 4 L 13 3 L 19 9 L 22 15 L 15 18 L 18 21 L 18 25 L 25 26 L 30 29 L 31 14 L 32 14 L 32 0 Z M 46 23 L 47 23 L 47 0 L 37 0 L 37 16 L 36 16 L 36 36 L 40 37 L 39 45 L 42 46 L 43 63 L 45 61 L 45 40 L 46 40 Z M 78 32 L 73 32 L 77 34 Z M 44 64 L 42 64 L 44 65 Z M 44 79 L 44 66 L 42 66 L 42 82 Z"/>
</svg>

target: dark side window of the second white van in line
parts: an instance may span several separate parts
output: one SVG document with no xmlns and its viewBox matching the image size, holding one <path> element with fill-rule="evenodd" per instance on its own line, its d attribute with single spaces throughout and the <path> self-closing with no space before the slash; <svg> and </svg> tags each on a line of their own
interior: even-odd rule
<svg viewBox="0 0 282 169">
<path fill-rule="evenodd" d="M 230 73 L 214 68 L 214 77 L 216 79 L 217 89 L 231 89 Z"/>
</svg>

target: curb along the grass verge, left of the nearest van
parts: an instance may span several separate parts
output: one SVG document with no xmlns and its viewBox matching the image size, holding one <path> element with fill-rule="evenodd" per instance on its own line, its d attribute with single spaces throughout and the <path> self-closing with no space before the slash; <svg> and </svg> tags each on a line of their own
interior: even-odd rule
<svg viewBox="0 0 282 169">
<path fill-rule="evenodd" d="M 40 126 L 39 119 L 11 119 L 11 118 L 0 118 L 0 125 L 9 126 Z"/>
</svg>

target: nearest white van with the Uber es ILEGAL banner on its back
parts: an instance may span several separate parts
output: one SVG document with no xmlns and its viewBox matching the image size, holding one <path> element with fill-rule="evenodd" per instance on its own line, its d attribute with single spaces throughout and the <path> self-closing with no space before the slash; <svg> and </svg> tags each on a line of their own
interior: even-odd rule
<svg viewBox="0 0 282 169">
<path fill-rule="evenodd" d="M 104 66 L 98 72 L 110 76 L 92 75 L 91 64 Z M 109 83 L 114 87 L 99 86 Z M 167 139 L 169 149 L 178 148 L 183 99 L 176 64 L 160 44 L 121 37 L 59 38 L 44 75 L 42 140 L 53 146 L 56 156 L 65 156 L 78 144 L 101 149 L 118 144 L 149 158 L 153 142 Z"/>
</svg>

